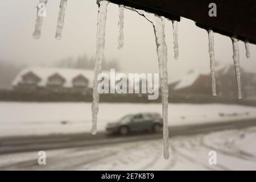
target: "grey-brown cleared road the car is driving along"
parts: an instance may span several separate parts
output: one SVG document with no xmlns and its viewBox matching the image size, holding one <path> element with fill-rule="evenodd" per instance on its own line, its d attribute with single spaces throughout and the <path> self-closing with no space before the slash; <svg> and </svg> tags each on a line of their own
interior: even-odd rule
<svg viewBox="0 0 256 182">
<path fill-rule="evenodd" d="M 213 122 L 200 125 L 186 125 L 170 127 L 170 137 L 179 135 L 194 135 L 210 133 L 212 131 L 243 129 L 256 126 L 256 119 L 240 121 Z M 107 135 L 100 132 L 96 135 L 65 134 L 49 136 L 9 137 L 0 138 L 0 154 L 14 154 L 19 152 L 30 152 L 40 150 L 56 150 L 61 148 L 76 148 L 86 146 L 101 146 L 114 143 L 126 143 L 142 140 L 153 140 L 162 138 L 162 134 L 136 133 L 126 137 Z"/>
</svg>

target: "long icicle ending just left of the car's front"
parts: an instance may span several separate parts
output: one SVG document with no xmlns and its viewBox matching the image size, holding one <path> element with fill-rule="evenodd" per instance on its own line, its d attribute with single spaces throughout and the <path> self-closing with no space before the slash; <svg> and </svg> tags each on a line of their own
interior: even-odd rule
<svg viewBox="0 0 256 182">
<path fill-rule="evenodd" d="M 100 94 L 98 93 L 98 90 L 97 90 L 98 83 L 99 83 L 99 81 L 97 80 L 97 77 L 101 73 L 102 61 L 104 59 L 106 13 L 107 13 L 108 1 L 98 0 L 97 3 L 98 3 L 97 44 L 96 44 L 97 47 L 96 47 L 96 58 L 95 58 L 95 68 L 94 68 L 92 130 L 91 130 L 91 133 L 93 135 L 97 133 L 97 114 L 98 114 L 98 104 L 100 102 Z"/>
</svg>

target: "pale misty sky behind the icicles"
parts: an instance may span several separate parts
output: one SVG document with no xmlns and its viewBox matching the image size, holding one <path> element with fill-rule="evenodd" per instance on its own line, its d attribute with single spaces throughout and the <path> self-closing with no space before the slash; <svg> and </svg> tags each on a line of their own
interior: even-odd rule
<svg viewBox="0 0 256 182">
<path fill-rule="evenodd" d="M 94 57 L 96 52 L 96 0 L 68 1 L 63 39 L 55 39 L 60 0 L 49 0 L 39 40 L 32 38 L 36 5 L 39 0 L 0 1 L 0 61 L 28 65 L 51 64 L 66 57 L 84 54 Z M 106 59 L 117 59 L 122 72 L 158 72 L 155 37 L 150 22 L 137 13 L 125 10 L 124 49 L 118 50 L 118 6 L 108 6 L 106 25 Z M 209 71 L 208 34 L 196 27 L 192 20 L 181 19 L 179 31 L 179 60 L 174 60 L 172 24 L 166 20 L 169 78 L 183 76 L 191 69 Z M 232 64 L 230 38 L 214 34 L 216 60 Z M 239 42 L 241 66 L 256 70 L 256 46 L 250 44 L 251 58 L 246 59 L 245 46 Z"/>
</svg>

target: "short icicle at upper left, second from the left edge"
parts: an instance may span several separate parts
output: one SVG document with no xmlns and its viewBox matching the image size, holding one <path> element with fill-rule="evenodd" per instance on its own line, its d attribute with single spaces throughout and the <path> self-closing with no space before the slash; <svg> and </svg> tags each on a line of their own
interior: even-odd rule
<svg viewBox="0 0 256 182">
<path fill-rule="evenodd" d="M 64 26 L 64 17 L 65 17 L 65 9 L 67 7 L 67 0 L 61 0 L 60 1 L 60 11 L 59 11 L 59 17 L 57 20 L 57 28 L 56 28 L 56 35 L 55 38 L 57 40 L 61 39 L 61 33 Z"/>
</svg>

